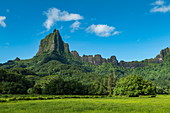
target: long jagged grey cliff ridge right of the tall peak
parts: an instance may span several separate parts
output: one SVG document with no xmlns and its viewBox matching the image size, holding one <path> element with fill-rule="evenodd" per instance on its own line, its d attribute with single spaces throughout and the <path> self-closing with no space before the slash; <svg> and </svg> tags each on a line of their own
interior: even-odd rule
<svg viewBox="0 0 170 113">
<path fill-rule="evenodd" d="M 155 58 L 145 59 L 143 61 L 132 61 L 132 62 L 125 62 L 116 59 L 116 56 L 111 56 L 110 58 L 102 58 L 101 55 L 83 55 L 82 57 L 79 56 L 77 51 L 72 51 L 72 55 L 76 58 L 81 59 L 84 62 L 89 62 L 94 65 L 101 65 L 102 63 L 113 63 L 114 65 L 118 65 L 121 67 L 129 67 L 129 68 L 136 68 L 136 67 L 144 67 L 147 63 L 161 63 L 164 60 L 164 57 L 170 53 L 170 48 L 165 48 L 161 50 L 160 54 L 157 55 Z"/>
</svg>

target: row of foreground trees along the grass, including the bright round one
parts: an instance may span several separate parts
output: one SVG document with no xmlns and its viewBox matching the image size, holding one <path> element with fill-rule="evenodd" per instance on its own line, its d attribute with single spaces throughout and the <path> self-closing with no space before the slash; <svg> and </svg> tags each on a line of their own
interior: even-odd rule
<svg viewBox="0 0 170 113">
<path fill-rule="evenodd" d="M 105 77 L 95 76 L 89 82 L 74 77 L 28 75 L 27 69 L 0 69 L 1 94 L 49 94 L 49 95 L 156 95 L 156 87 L 142 76 L 127 76 L 118 80 L 116 71 Z M 23 74 L 23 75 L 22 75 Z M 32 73 L 33 74 L 33 73 Z M 81 73 L 79 73 L 81 74 Z M 85 75 L 87 76 L 87 75 Z M 91 75 L 94 76 L 94 75 Z M 36 80 L 38 79 L 38 81 Z"/>
</svg>

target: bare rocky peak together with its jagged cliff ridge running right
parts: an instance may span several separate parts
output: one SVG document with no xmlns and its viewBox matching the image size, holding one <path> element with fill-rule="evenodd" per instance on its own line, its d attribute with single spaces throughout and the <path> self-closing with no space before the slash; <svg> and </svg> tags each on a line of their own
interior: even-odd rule
<svg viewBox="0 0 170 113">
<path fill-rule="evenodd" d="M 169 47 L 161 50 L 160 54 L 157 55 L 155 58 L 132 62 L 118 61 L 116 56 L 111 56 L 110 58 L 106 59 L 103 58 L 100 54 L 96 54 L 94 56 L 93 55 L 80 56 L 76 50 L 70 52 L 69 44 L 64 43 L 59 31 L 54 29 L 53 33 L 50 33 L 44 39 L 41 40 L 39 50 L 31 61 L 41 65 L 51 60 L 56 60 L 63 64 L 70 65 L 82 65 L 84 62 L 87 62 L 89 64 L 98 66 L 102 65 L 103 63 L 111 63 L 113 65 L 121 67 L 137 68 L 147 66 L 149 63 L 161 63 L 164 61 L 164 58 L 168 53 L 170 53 Z M 8 67 L 12 68 L 15 67 L 14 63 L 15 61 L 20 61 L 20 59 L 16 58 L 15 60 L 9 60 L 7 63 L 1 65 L 12 64 L 14 66 L 10 65 Z M 29 66 L 26 65 L 22 67 Z"/>
</svg>

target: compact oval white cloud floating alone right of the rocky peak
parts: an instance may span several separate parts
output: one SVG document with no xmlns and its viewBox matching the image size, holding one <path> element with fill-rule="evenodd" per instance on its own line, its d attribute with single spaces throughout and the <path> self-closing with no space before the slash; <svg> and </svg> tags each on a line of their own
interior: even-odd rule
<svg viewBox="0 0 170 113">
<path fill-rule="evenodd" d="M 86 29 L 86 31 L 89 33 L 95 33 L 97 36 L 100 37 L 109 37 L 121 33 L 120 31 L 115 31 L 115 29 L 116 29 L 115 27 L 108 26 L 108 25 L 92 24 Z"/>
</svg>

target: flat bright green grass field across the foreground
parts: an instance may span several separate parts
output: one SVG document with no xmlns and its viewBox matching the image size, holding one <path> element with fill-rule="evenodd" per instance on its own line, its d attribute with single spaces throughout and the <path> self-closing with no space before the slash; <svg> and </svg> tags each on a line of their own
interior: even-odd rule
<svg viewBox="0 0 170 113">
<path fill-rule="evenodd" d="M 170 95 L 9 101 L 0 113 L 170 113 Z"/>
</svg>

